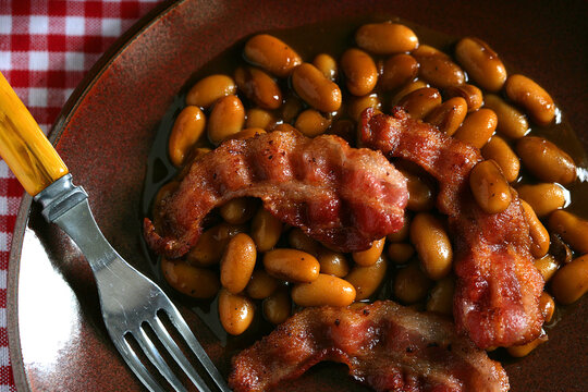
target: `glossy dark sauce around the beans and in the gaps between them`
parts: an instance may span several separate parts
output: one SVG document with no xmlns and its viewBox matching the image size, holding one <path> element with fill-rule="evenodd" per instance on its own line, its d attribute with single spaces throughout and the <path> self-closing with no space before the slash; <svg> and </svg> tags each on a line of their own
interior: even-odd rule
<svg viewBox="0 0 588 392">
<path fill-rule="evenodd" d="M 332 57 L 336 61 L 336 65 L 339 66 L 339 75 L 338 78 L 335 78 L 335 83 L 338 86 L 342 89 L 343 94 L 343 105 L 342 108 L 335 112 L 330 113 L 332 115 L 332 119 L 330 120 L 330 128 L 335 128 L 338 126 L 338 123 L 343 123 L 344 121 L 351 120 L 351 128 L 354 128 L 354 117 L 348 114 L 350 108 L 346 108 L 346 105 L 350 105 L 352 102 L 352 95 L 348 94 L 347 88 L 345 87 L 345 75 L 341 71 L 341 58 L 342 54 L 348 50 L 350 48 L 358 48 L 354 40 L 354 35 L 358 30 L 358 28 L 362 25 L 365 25 L 366 23 L 378 23 L 380 21 L 387 21 L 392 20 L 396 22 L 395 19 L 390 17 L 382 17 L 382 16 L 368 16 L 363 19 L 355 19 L 355 20 L 344 20 L 344 21 L 335 21 L 335 22 L 327 22 L 321 23 L 319 25 L 310 25 L 310 26 L 302 26 L 299 28 L 294 29 L 285 29 L 285 30 L 273 30 L 273 32 L 264 32 L 268 33 L 281 40 L 283 40 L 287 46 L 292 49 L 294 49 L 299 57 L 302 58 L 303 62 L 313 63 L 314 59 L 321 54 L 328 54 Z M 405 21 L 399 21 L 399 23 L 402 23 L 406 26 L 408 26 L 416 35 L 418 36 L 418 40 L 422 45 L 429 45 L 431 47 L 434 47 L 444 53 L 449 54 L 451 59 L 458 64 L 458 62 L 455 60 L 454 56 L 454 45 L 457 42 L 457 38 L 449 37 L 439 33 L 434 33 L 428 28 L 417 26 L 415 24 L 405 22 Z M 219 57 L 212 59 L 209 63 L 207 63 L 205 66 L 203 66 L 200 70 L 194 73 L 193 77 L 186 82 L 183 89 L 180 91 L 179 96 L 174 99 L 174 102 L 169 108 L 167 114 L 162 119 L 156 136 L 156 142 L 154 144 L 151 154 L 149 156 L 149 162 L 148 162 L 148 173 L 146 176 L 145 182 L 145 191 L 144 191 L 144 198 L 143 198 L 143 206 L 142 206 L 142 212 L 143 216 L 149 216 L 150 215 L 150 208 L 151 208 L 151 200 L 155 198 L 155 195 L 157 194 L 158 189 L 168 183 L 172 177 L 175 176 L 177 173 L 177 169 L 174 168 L 174 166 L 170 162 L 167 149 L 168 149 L 168 137 L 170 134 L 170 130 L 173 127 L 174 120 L 180 113 L 180 111 L 185 107 L 185 97 L 186 94 L 192 89 L 192 87 L 198 82 L 204 79 L 206 76 L 209 75 L 217 75 L 217 74 L 223 74 L 229 75 L 231 77 L 234 77 L 235 70 L 238 66 L 252 66 L 250 63 L 247 63 L 243 59 L 243 49 L 244 45 L 249 37 L 245 37 L 243 40 L 236 42 L 231 48 L 229 48 L 225 52 L 221 53 Z M 480 37 L 482 39 L 488 39 L 489 44 L 491 45 L 491 37 Z M 365 50 L 365 49 L 363 49 Z M 377 65 L 377 69 L 379 70 L 378 77 L 381 79 L 382 77 L 382 68 L 387 59 L 391 58 L 392 56 L 397 54 L 390 54 L 390 56 L 382 56 L 382 54 L 375 54 L 370 53 L 372 56 L 372 59 Z M 513 64 L 506 63 L 506 70 L 509 71 L 509 74 L 515 74 L 515 73 L 525 73 L 525 70 L 518 70 L 515 66 L 512 66 Z M 409 71 L 409 75 L 415 74 L 416 72 Z M 464 70 L 466 71 L 466 70 Z M 417 76 L 416 81 L 420 81 Z M 476 85 L 476 82 L 471 78 L 466 78 L 464 81 L 468 84 Z M 541 81 L 536 81 L 539 84 L 541 84 Z M 280 77 L 277 78 L 278 87 L 282 91 L 282 98 L 284 100 L 292 99 L 292 88 L 290 85 L 290 78 Z M 378 108 L 381 108 L 381 110 L 384 113 L 388 113 L 390 111 L 390 108 L 392 107 L 394 100 L 400 100 L 397 97 L 399 93 L 405 88 L 406 84 L 403 83 L 401 86 L 395 88 L 384 88 L 387 86 L 383 85 L 383 83 L 377 83 L 373 89 L 369 91 L 369 94 L 373 94 L 378 97 Z M 445 102 L 451 95 L 446 95 L 443 88 L 439 86 L 431 86 L 439 88 L 441 91 L 441 95 L 443 96 L 443 102 Z M 479 86 L 478 86 L 479 87 Z M 366 89 L 367 90 L 367 89 Z M 488 94 L 490 94 L 487 90 L 482 90 L 483 96 L 486 97 Z M 549 93 L 549 91 L 548 91 Z M 502 99 L 507 100 L 504 94 L 502 93 L 494 93 L 498 96 L 500 96 Z M 242 93 L 237 93 L 238 98 L 243 100 L 243 105 L 245 107 L 245 111 L 249 113 L 250 109 L 258 108 L 257 105 L 255 105 L 252 100 L 247 99 L 246 96 Z M 556 97 L 555 103 L 558 103 Z M 367 100 L 366 100 L 367 101 Z M 292 108 L 293 109 L 293 118 L 289 123 L 291 125 L 294 125 L 298 114 L 303 112 L 304 110 L 313 109 L 310 106 L 305 105 L 299 98 L 292 99 Z M 366 103 L 367 105 L 367 103 Z M 370 103 L 371 105 L 371 103 Z M 482 106 L 483 108 L 483 106 Z M 518 108 L 520 111 L 524 111 L 523 109 Z M 565 109 L 565 108 L 564 108 Z M 264 109 L 267 110 L 267 109 Z M 347 111 L 345 113 L 344 111 Z M 209 110 L 206 112 L 207 120 L 209 119 Z M 322 112 L 322 114 L 328 114 Z M 267 110 L 268 122 L 273 123 L 280 123 L 280 119 L 283 119 L 284 115 L 281 112 L 281 109 L 278 110 Z M 555 111 L 555 121 L 551 122 L 547 126 L 539 126 L 536 123 L 534 123 L 530 120 L 530 117 L 527 115 L 529 127 L 530 127 L 530 134 L 532 136 L 539 136 L 544 137 L 548 140 L 554 143 L 558 147 L 560 147 L 562 150 L 566 151 L 576 166 L 578 167 L 578 181 L 575 181 L 574 183 L 566 185 L 566 188 L 568 191 L 567 195 L 567 201 L 566 201 L 566 210 L 577 215 L 580 218 L 587 219 L 588 218 L 588 204 L 583 203 L 581 195 L 588 194 L 588 185 L 586 183 L 586 179 L 588 179 L 588 171 L 586 168 L 588 167 L 588 159 L 586 158 L 586 152 L 584 151 L 581 144 L 578 143 L 577 137 L 574 135 L 572 128 L 565 121 L 565 115 L 562 115 L 560 110 L 556 109 Z M 247 119 L 249 120 L 249 119 Z M 247 121 L 246 125 L 244 127 L 247 127 Z M 271 130 L 272 125 L 266 128 L 266 131 Z M 265 127 L 265 126 L 264 126 Z M 206 133 L 206 132 L 205 132 Z M 497 133 L 500 134 L 500 133 Z M 501 135 L 503 136 L 503 135 Z M 503 138 L 509 143 L 509 145 L 514 149 L 515 143 L 514 140 L 510 139 L 509 137 Z M 356 139 L 355 135 L 350 138 L 347 142 L 350 142 L 353 146 L 355 146 Z M 215 146 L 211 145 L 206 137 L 200 138 L 196 146 L 199 147 L 208 147 L 213 148 Z M 525 168 L 520 168 L 520 173 L 518 175 L 518 179 L 516 179 L 513 184 L 513 186 L 517 187 L 520 184 L 536 184 L 539 181 L 537 181 Z M 579 201 L 576 201 L 579 200 Z M 217 213 L 212 213 L 210 218 L 210 225 L 218 224 L 222 222 L 222 219 Z M 246 223 L 248 234 L 250 234 L 250 220 Z M 280 238 L 278 240 L 278 243 L 275 244 L 274 248 L 279 247 L 292 247 L 291 244 L 287 242 L 287 230 L 284 230 Z M 391 242 L 385 242 L 384 247 L 384 255 L 387 255 L 388 246 Z M 402 243 L 406 244 L 407 240 L 403 240 Z M 146 253 L 148 254 L 148 250 L 146 249 Z M 164 282 L 164 280 L 161 277 L 160 268 L 158 267 L 158 260 L 154 255 L 149 255 L 151 257 L 151 260 L 154 260 L 154 274 L 156 274 L 159 279 L 159 281 Z M 346 255 L 347 260 L 350 264 L 352 264 L 352 257 L 351 255 Z M 413 266 L 416 266 L 416 258 L 413 258 L 409 265 L 403 264 L 401 266 L 395 266 L 394 262 L 389 262 L 389 268 L 387 271 L 387 278 L 384 278 L 383 283 L 381 284 L 380 289 L 370 296 L 370 299 L 375 298 L 395 298 L 393 295 L 394 286 L 393 286 L 393 280 L 392 277 L 395 277 L 397 274 L 399 269 L 406 269 L 407 266 L 413 268 Z M 256 270 L 261 267 L 260 262 L 258 262 Z M 408 268 L 408 270 L 411 270 Z M 254 272 L 255 273 L 255 272 Z M 403 274 L 406 274 L 406 272 L 403 272 Z M 429 282 L 430 283 L 430 282 Z M 429 284 L 428 283 L 428 284 Z M 284 290 L 284 289 L 281 289 Z M 397 299 L 397 298 L 396 298 Z M 260 335 L 266 334 L 269 332 L 273 326 L 264 320 L 261 317 L 261 299 L 255 299 L 257 304 L 256 309 L 256 316 L 254 317 L 254 320 L 252 322 L 252 326 L 247 331 L 245 331 L 243 334 L 238 336 L 231 336 L 228 338 L 226 332 L 223 330 L 222 326 L 219 321 L 219 314 L 218 314 L 218 299 L 215 299 L 213 302 L 210 301 L 201 301 L 201 299 L 191 299 L 191 298 L 183 298 L 185 303 L 187 303 L 191 307 L 193 307 L 198 315 L 198 317 L 212 330 L 212 332 L 221 340 L 222 344 L 226 344 L 226 353 L 225 355 L 231 355 L 235 351 L 243 348 L 247 345 L 249 345 L 254 340 L 258 339 Z M 422 299 L 417 306 L 420 306 L 421 308 L 425 307 L 427 298 Z M 559 305 L 555 307 L 555 313 L 560 311 Z M 554 319 L 558 319 L 558 316 L 554 317 Z"/>
</svg>

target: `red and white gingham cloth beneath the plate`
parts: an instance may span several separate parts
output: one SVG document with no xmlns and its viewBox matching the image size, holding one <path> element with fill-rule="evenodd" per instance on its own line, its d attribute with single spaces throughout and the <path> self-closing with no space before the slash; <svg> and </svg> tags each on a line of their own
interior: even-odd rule
<svg viewBox="0 0 588 392">
<path fill-rule="evenodd" d="M 47 133 L 105 50 L 158 0 L 0 0 L 0 72 Z M 0 392 L 15 391 L 7 274 L 23 188 L 0 159 Z"/>
</svg>

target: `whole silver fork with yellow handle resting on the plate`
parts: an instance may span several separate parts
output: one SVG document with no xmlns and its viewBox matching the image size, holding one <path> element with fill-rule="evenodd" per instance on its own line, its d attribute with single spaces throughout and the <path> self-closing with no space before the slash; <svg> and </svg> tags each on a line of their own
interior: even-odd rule
<svg viewBox="0 0 588 392">
<path fill-rule="evenodd" d="M 160 354 L 156 346 L 158 343 L 199 391 L 210 391 L 171 336 L 160 317 L 164 314 L 215 387 L 229 392 L 219 370 L 166 293 L 128 265 L 102 235 L 91 215 L 87 193 L 73 184 L 65 163 L 1 73 L 0 156 L 25 191 L 42 205 L 45 219 L 61 228 L 86 257 L 96 279 L 108 333 L 145 387 L 150 391 L 163 390 L 139 358 L 142 353 L 130 344 L 130 339 L 135 340 L 143 355 L 176 391 L 186 391 L 186 388 Z M 157 340 L 149 336 L 147 328 L 151 329 Z"/>
</svg>

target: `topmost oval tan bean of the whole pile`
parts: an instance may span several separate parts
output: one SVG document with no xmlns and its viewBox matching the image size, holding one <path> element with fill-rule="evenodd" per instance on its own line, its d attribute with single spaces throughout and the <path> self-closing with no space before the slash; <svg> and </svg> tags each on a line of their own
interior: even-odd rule
<svg viewBox="0 0 588 392">
<path fill-rule="evenodd" d="M 355 41 L 375 54 L 408 52 L 418 47 L 418 37 L 411 28 L 391 22 L 363 25 L 355 33 Z"/>
</svg>

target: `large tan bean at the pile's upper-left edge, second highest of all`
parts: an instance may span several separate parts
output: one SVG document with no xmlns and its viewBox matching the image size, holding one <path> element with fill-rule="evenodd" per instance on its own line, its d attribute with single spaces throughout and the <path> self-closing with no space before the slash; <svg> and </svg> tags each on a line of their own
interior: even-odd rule
<svg viewBox="0 0 588 392">
<path fill-rule="evenodd" d="M 259 34 L 247 40 L 245 59 L 279 77 L 286 77 L 302 63 L 302 59 L 284 41 L 268 34 Z"/>
</svg>

